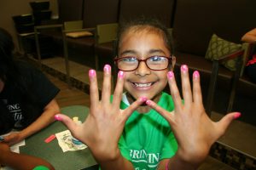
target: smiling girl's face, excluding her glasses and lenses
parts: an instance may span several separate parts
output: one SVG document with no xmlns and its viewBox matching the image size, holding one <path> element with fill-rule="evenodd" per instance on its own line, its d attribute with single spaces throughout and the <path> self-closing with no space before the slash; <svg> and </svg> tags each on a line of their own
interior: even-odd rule
<svg viewBox="0 0 256 170">
<path fill-rule="evenodd" d="M 170 51 L 156 31 L 126 31 L 119 43 L 119 57 L 134 56 L 137 59 L 159 55 L 170 57 Z M 166 74 L 169 70 L 152 71 L 145 62 L 141 62 L 135 71 L 125 71 L 125 89 L 130 101 L 147 97 L 157 102 L 160 93 L 166 87 Z M 133 99 L 132 99 L 133 98 Z"/>
</svg>

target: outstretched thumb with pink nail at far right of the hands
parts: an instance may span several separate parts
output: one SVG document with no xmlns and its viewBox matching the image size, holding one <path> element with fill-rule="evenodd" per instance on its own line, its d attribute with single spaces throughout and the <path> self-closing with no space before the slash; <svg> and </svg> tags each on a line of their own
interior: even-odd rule
<svg viewBox="0 0 256 170">
<path fill-rule="evenodd" d="M 229 113 L 226 116 L 224 116 L 219 122 L 218 122 L 218 128 L 220 129 L 221 135 L 223 135 L 229 127 L 230 123 L 241 116 L 240 112 L 233 112 Z"/>
</svg>

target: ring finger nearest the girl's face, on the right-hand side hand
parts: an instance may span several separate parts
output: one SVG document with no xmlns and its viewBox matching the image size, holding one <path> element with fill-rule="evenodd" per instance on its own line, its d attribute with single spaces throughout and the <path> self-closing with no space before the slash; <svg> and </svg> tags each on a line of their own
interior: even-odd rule
<svg viewBox="0 0 256 170">
<path fill-rule="evenodd" d="M 177 83 L 175 81 L 175 77 L 174 77 L 174 73 L 172 71 L 169 71 L 167 74 L 168 77 L 168 83 L 169 83 L 169 87 L 171 90 L 171 94 L 172 94 L 172 99 L 175 105 L 175 109 L 177 111 L 180 111 L 182 108 L 182 99 L 180 97 L 178 88 L 177 88 Z"/>
</svg>

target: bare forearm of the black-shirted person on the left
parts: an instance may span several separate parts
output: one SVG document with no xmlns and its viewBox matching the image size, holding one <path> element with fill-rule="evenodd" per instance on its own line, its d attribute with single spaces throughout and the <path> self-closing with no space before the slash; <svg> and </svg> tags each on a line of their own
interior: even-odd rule
<svg viewBox="0 0 256 170">
<path fill-rule="evenodd" d="M 16 144 L 23 139 L 31 136 L 33 133 L 37 133 L 44 127 L 47 127 L 51 122 L 54 122 L 55 114 L 60 113 L 60 108 L 55 99 L 52 99 L 48 105 L 44 107 L 44 112 L 35 122 L 21 130 L 18 133 L 10 133 L 4 138 L 4 142 L 9 145 Z"/>
</svg>

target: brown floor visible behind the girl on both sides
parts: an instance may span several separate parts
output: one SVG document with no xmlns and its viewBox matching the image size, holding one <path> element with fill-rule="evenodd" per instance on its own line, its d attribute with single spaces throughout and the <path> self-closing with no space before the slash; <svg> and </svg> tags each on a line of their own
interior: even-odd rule
<svg viewBox="0 0 256 170">
<path fill-rule="evenodd" d="M 55 57 L 51 59 L 43 59 L 42 64 L 44 67 L 54 68 L 55 71 L 61 72 L 61 74 L 66 74 L 65 70 L 65 63 L 64 59 L 61 57 Z M 70 65 L 70 75 L 73 79 L 79 82 L 83 82 L 84 84 L 88 84 L 88 76 L 87 73 L 90 68 L 79 65 L 72 61 L 69 62 Z M 87 105 L 90 106 L 90 99 L 89 95 L 85 94 L 84 92 L 88 92 L 88 89 L 80 90 L 78 88 L 70 88 L 66 82 L 60 81 L 59 78 L 52 77 L 47 74 L 49 79 L 55 83 L 56 86 L 61 88 L 61 93 L 57 96 L 57 101 L 61 107 L 67 105 Z M 102 71 L 97 71 L 97 77 L 99 84 L 102 83 Z M 62 78 L 63 79 L 63 78 Z M 72 83 L 71 83 L 72 84 Z M 88 88 L 88 86 L 87 86 Z M 99 85 L 101 88 L 101 85 Z M 222 117 L 221 114 L 212 112 L 212 120 L 218 121 Z M 247 166 L 239 166 L 236 169 L 254 169 L 256 166 L 256 127 L 249 125 L 244 122 L 234 121 L 231 123 L 230 127 L 228 128 L 225 135 L 218 140 L 219 144 L 227 146 L 232 150 L 232 156 L 234 152 L 238 152 L 238 155 L 247 156 L 249 158 L 249 163 L 246 160 Z M 235 151 L 234 151 L 235 150 Z M 233 159 L 233 158 L 232 158 Z M 237 156 L 235 156 L 237 161 Z M 238 160 L 239 161 L 239 160 Z M 232 163 L 231 163 L 232 164 Z M 228 170 L 228 169 L 235 169 L 230 166 L 225 165 L 223 162 L 218 161 L 217 159 L 212 158 L 212 156 L 208 156 L 205 163 L 199 169 L 221 169 L 221 170 Z M 255 168 L 256 169 L 256 168 Z"/>
</svg>

